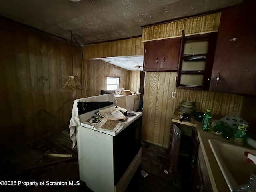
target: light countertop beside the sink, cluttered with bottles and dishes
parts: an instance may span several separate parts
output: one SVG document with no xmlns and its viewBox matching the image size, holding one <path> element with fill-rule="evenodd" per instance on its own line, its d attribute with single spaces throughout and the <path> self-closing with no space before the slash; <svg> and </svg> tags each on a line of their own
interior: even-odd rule
<svg viewBox="0 0 256 192">
<path fill-rule="evenodd" d="M 194 116 L 191 117 L 190 122 L 182 121 L 180 122 L 178 115 L 179 112 L 174 112 L 174 115 L 172 116 L 172 122 L 188 125 L 196 128 L 198 139 L 200 142 L 200 146 L 202 148 L 202 153 L 204 156 L 204 160 L 206 163 L 206 168 L 209 174 L 210 182 L 212 184 L 212 190 L 213 192 L 230 192 L 228 189 L 228 185 L 225 182 L 225 179 L 222 175 L 222 172 L 218 166 L 218 163 L 214 157 L 214 154 L 212 152 L 212 149 L 210 147 L 210 144 L 208 142 L 209 139 L 216 139 L 224 142 L 232 142 L 232 140 L 228 140 L 223 138 L 221 135 L 216 134 L 212 128 L 210 128 L 209 132 L 205 132 L 202 130 L 201 125 L 202 122 L 198 122 L 194 119 Z M 220 119 L 220 116 L 214 117 L 213 119 Z"/>
</svg>

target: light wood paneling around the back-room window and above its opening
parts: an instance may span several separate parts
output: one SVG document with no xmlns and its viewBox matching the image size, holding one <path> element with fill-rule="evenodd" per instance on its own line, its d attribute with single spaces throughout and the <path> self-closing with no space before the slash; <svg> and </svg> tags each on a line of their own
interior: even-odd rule
<svg viewBox="0 0 256 192">
<path fill-rule="evenodd" d="M 118 76 L 121 78 L 120 88 L 136 91 L 140 86 L 140 72 L 124 70 L 101 60 L 90 59 L 143 55 L 143 50 L 141 37 L 84 46 L 84 86 L 87 87 L 87 96 L 98 95 L 101 89 L 106 89 L 106 76 Z"/>
</svg>

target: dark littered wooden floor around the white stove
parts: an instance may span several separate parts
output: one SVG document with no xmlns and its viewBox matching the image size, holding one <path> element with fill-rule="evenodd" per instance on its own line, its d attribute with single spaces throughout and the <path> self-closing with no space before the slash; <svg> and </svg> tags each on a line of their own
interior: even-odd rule
<svg viewBox="0 0 256 192">
<path fill-rule="evenodd" d="M 72 157 L 51 157 L 46 154 L 72 154 Z M 167 170 L 165 148 L 142 142 L 142 162 L 126 192 L 179 192 L 185 191 L 186 174 L 178 172 L 175 182 Z M 148 173 L 144 177 L 141 170 Z M 8 192 L 91 192 L 79 180 L 77 151 L 72 150 L 69 129 L 42 140 L 0 155 L 0 181 L 12 186 L 0 186 Z M 18 182 L 39 182 L 38 186 L 21 186 Z M 79 182 L 77 186 L 47 186 L 40 182 Z M 16 182 L 16 186 L 15 185 Z M 2 184 L 2 183 L 1 183 Z"/>
</svg>

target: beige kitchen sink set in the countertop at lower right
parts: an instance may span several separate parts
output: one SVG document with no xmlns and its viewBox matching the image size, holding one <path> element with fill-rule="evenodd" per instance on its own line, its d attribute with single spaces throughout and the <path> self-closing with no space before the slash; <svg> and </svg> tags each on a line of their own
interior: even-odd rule
<svg viewBox="0 0 256 192">
<path fill-rule="evenodd" d="M 224 176 L 228 188 L 232 192 L 239 185 L 247 184 L 250 173 L 256 169 L 253 162 L 246 162 L 244 152 L 256 155 L 256 150 L 235 143 L 209 139 L 212 152 Z"/>
</svg>

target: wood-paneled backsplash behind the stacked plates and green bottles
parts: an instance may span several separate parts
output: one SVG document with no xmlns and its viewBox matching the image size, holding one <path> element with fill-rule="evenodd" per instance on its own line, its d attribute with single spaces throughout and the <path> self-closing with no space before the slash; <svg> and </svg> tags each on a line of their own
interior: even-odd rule
<svg viewBox="0 0 256 192">
<path fill-rule="evenodd" d="M 175 108 L 182 100 L 196 102 L 196 110 L 226 116 L 237 114 L 249 123 L 249 136 L 256 139 L 256 96 L 245 96 L 222 92 L 176 89 Z"/>
</svg>

